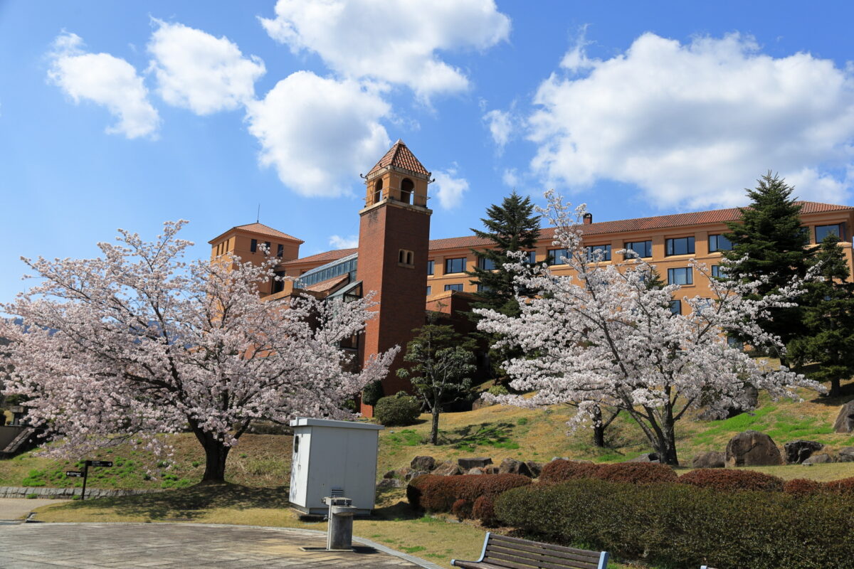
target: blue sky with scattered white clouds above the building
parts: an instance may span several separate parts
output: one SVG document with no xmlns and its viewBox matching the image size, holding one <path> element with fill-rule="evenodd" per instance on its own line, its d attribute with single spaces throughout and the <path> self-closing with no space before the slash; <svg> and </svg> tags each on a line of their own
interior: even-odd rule
<svg viewBox="0 0 854 569">
<path fill-rule="evenodd" d="M 434 238 L 511 189 L 596 221 L 744 203 L 767 170 L 851 204 L 847 2 L 0 0 L 0 301 L 21 255 L 260 221 L 347 247 L 402 138 Z"/>
</svg>

